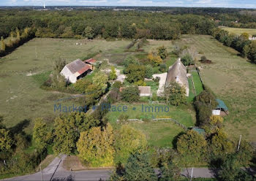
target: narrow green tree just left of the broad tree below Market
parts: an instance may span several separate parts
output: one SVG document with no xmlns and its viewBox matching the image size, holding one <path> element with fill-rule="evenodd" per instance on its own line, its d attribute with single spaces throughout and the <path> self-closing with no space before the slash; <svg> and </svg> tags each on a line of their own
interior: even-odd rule
<svg viewBox="0 0 256 181">
<path fill-rule="evenodd" d="M 37 150 L 45 150 L 50 140 L 51 132 L 42 118 L 37 118 L 33 128 L 33 139 Z"/>
</svg>

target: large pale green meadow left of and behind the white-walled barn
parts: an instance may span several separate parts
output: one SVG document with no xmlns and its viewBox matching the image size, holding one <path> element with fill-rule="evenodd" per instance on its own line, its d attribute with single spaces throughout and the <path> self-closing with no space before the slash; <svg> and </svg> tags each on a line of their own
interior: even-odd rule
<svg viewBox="0 0 256 181">
<path fill-rule="evenodd" d="M 80 105 L 79 99 L 69 98 L 69 93 L 43 90 L 42 82 L 53 70 L 53 61 L 59 58 L 67 62 L 77 58 L 97 58 L 99 61 L 120 63 L 129 55 L 146 52 L 129 52 L 130 40 L 106 41 L 103 39 L 40 39 L 35 38 L 18 47 L 9 55 L 0 58 L 0 115 L 7 127 L 18 126 L 31 133 L 34 118 L 44 118 L 48 123 L 60 114 L 54 112 L 54 104 L 62 106 Z M 76 45 L 78 43 L 78 45 Z M 170 41 L 149 41 L 143 49 L 150 51 L 161 45 L 170 46 Z M 105 63 L 106 64 L 106 63 Z M 18 124 L 19 123 L 19 124 Z"/>
</svg>

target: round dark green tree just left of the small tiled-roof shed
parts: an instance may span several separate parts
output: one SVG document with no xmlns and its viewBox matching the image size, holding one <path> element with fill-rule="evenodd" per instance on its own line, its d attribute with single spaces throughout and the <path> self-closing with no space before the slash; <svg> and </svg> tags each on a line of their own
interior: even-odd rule
<svg viewBox="0 0 256 181">
<path fill-rule="evenodd" d="M 140 99 L 140 90 L 137 86 L 124 88 L 121 91 L 121 99 L 127 102 L 135 102 Z"/>
</svg>

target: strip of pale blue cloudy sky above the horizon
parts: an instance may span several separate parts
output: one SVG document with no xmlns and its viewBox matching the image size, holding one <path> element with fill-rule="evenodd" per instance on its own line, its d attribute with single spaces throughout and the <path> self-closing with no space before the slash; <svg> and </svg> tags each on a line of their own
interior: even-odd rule
<svg viewBox="0 0 256 181">
<path fill-rule="evenodd" d="M 256 8 L 256 0 L 0 0 L 0 6 L 154 6 Z"/>
</svg>

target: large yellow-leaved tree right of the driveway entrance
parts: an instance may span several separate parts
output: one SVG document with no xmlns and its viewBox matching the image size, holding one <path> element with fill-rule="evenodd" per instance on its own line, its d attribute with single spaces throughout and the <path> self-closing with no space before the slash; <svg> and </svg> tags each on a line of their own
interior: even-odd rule
<svg viewBox="0 0 256 181">
<path fill-rule="evenodd" d="M 79 157 L 90 166 L 112 166 L 113 128 L 110 123 L 101 131 L 100 127 L 91 128 L 80 134 L 77 143 Z"/>
</svg>

